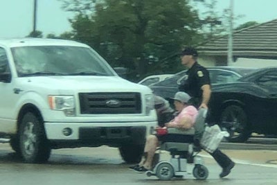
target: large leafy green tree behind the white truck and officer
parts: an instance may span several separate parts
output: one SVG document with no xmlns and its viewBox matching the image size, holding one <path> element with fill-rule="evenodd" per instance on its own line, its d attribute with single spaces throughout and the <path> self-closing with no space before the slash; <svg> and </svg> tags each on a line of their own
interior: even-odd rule
<svg viewBox="0 0 277 185">
<path fill-rule="evenodd" d="M 62 1 L 64 10 L 75 12 L 74 39 L 113 67 L 127 67 L 129 78 L 179 71 L 179 59 L 169 56 L 199 41 L 201 25 L 188 0 Z"/>
</svg>

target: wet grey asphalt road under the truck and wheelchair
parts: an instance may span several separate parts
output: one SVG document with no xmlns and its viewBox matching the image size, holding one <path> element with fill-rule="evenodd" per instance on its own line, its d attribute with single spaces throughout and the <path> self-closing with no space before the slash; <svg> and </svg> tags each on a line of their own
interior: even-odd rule
<svg viewBox="0 0 277 185">
<path fill-rule="evenodd" d="M 253 148 L 252 145 L 255 144 L 259 146 L 258 149 Z M 268 146 L 275 146 L 274 141 L 271 144 L 263 144 L 260 141 L 250 143 L 250 150 L 247 149 L 247 144 L 245 145 L 222 143 L 220 146 L 236 163 L 232 173 L 226 178 L 218 177 L 221 168 L 211 156 L 201 152 L 199 155 L 204 157 L 205 166 L 209 170 L 208 179 L 197 181 L 193 175 L 188 174 L 185 179 L 161 182 L 157 177 L 147 177 L 129 170 L 129 164 L 125 164 L 121 159 L 117 148 L 101 146 L 52 150 L 47 164 L 24 164 L 8 143 L 0 143 L 0 182 L 5 185 L 277 184 L 277 152 L 267 149 Z M 262 149 L 260 145 L 263 145 Z M 228 146 L 228 149 L 224 149 L 224 146 Z M 168 152 L 162 152 L 162 159 L 168 157 Z M 191 172 L 193 166 L 188 167 L 188 172 Z"/>
</svg>

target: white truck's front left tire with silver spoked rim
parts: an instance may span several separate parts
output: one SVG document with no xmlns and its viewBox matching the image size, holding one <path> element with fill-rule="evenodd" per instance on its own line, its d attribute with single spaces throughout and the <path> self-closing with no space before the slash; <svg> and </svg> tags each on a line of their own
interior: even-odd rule
<svg viewBox="0 0 277 185">
<path fill-rule="evenodd" d="M 24 114 L 20 121 L 19 146 L 21 157 L 27 163 L 44 163 L 50 157 L 42 118 L 33 112 Z"/>
</svg>

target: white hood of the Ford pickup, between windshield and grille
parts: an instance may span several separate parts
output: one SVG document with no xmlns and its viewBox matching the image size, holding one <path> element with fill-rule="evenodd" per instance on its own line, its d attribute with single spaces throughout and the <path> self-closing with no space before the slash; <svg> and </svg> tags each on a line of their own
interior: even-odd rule
<svg viewBox="0 0 277 185">
<path fill-rule="evenodd" d="M 118 76 L 36 76 L 20 78 L 21 88 L 53 89 L 60 93 L 69 91 L 141 91 L 151 90 Z M 23 82 L 22 82 L 23 81 Z M 33 88 L 32 88 L 33 87 Z"/>
</svg>

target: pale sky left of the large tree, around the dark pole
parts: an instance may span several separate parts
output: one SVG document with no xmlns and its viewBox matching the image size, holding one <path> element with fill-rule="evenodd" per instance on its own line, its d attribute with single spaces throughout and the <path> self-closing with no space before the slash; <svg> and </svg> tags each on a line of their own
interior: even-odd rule
<svg viewBox="0 0 277 185">
<path fill-rule="evenodd" d="M 33 0 L 0 0 L 0 37 L 25 37 L 33 30 Z M 72 13 L 57 0 L 37 0 L 37 30 L 60 35 L 71 30 Z"/>
</svg>

